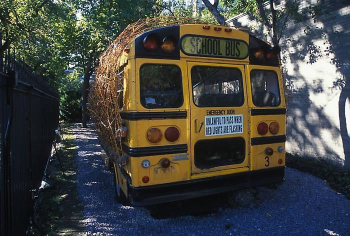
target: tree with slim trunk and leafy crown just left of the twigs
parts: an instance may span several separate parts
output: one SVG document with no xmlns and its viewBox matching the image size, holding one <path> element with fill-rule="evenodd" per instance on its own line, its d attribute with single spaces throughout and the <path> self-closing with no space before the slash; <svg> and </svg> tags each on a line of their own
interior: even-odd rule
<svg viewBox="0 0 350 236">
<path fill-rule="evenodd" d="M 112 39 L 129 23 L 158 12 L 154 0 L 77 0 L 72 63 L 83 71 L 82 126 L 86 127 L 89 80 L 98 57 Z"/>
</svg>

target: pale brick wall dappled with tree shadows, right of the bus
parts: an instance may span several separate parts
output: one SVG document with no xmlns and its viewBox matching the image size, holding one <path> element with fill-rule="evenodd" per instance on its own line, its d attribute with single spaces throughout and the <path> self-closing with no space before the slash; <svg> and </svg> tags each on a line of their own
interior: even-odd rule
<svg viewBox="0 0 350 236">
<path fill-rule="evenodd" d="M 285 4 L 274 2 L 276 9 Z M 315 22 L 301 12 L 312 4 L 318 9 Z M 350 5 L 347 0 L 296 0 L 295 5 L 299 20 L 290 14 L 279 41 L 287 87 L 286 150 L 349 168 Z M 240 14 L 228 23 L 271 42 L 269 32 L 252 15 Z"/>
</svg>

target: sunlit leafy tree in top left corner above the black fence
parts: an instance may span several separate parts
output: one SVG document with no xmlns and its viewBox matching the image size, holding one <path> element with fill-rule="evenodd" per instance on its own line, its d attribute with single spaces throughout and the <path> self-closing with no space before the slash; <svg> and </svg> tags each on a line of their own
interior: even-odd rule
<svg viewBox="0 0 350 236">
<path fill-rule="evenodd" d="M 70 41 L 75 22 L 71 9 L 61 1 L 5 0 L 0 19 L 0 58 L 5 50 L 16 51 L 35 73 L 51 78 L 49 82 L 57 88 L 69 61 L 66 41 Z"/>
</svg>

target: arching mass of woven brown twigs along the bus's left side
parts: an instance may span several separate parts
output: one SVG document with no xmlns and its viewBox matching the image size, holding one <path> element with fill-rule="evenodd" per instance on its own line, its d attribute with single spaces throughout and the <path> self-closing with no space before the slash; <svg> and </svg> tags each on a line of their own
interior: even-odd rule
<svg viewBox="0 0 350 236">
<path fill-rule="evenodd" d="M 90 113 L 96 124 L 99 137 L 112 150 L 121 153 L 120 130 L 121 117 L 118 107 L 117 92 L 123 84 L 123 68 L 120 68 L 120 56 L 128 43 L 139 34 L 148 30 L 186 23 L 203 23 L 195 18 L 159 16 L 139 19 L 129 24 L 119 36 L 108 46 L 99 59 L 96 76 L 90 89 Z"/>
</svg>

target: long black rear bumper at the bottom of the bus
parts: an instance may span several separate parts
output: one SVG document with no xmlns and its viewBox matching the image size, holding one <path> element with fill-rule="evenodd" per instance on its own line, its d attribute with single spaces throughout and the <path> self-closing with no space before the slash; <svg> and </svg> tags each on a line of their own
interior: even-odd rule
<svg viewBox="0 0 350 236">
<path fill-rule="evenodd" d="M 132 205 L 144 206 L 278 183 L 283 180 L 284 166 L 152 186 L 129 186 L 128 196 Z"/>
</svg>

